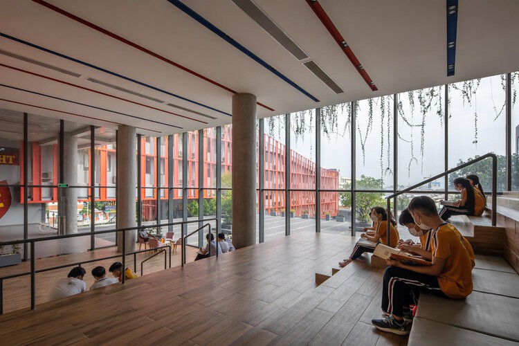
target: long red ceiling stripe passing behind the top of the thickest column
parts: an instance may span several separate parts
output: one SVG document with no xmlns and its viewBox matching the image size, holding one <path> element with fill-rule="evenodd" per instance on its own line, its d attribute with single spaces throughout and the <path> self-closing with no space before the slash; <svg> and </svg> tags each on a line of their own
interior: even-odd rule
<svg viewBox="0 0 519 346">
<path fill-rule="evenodd" d="M 109 37 L 112 37 L 113 39 L 117 39 L 118 41 L 120 41 L 120 42 L 122 42 L 124 44 L 127 44 L 127 45 L 129 45 L 131 47 L 134 47 L 134 48 L 138 49 L 139 51 L 141 51 L 143 53 L 146 53 L 148 55 L 152 55 L 152 57 L 156 57 L 157 59 L 162 60 L 163 62 L 166 62 L 167 64 L 173 65 L 173 66 L 175 66 L 178 69 L 181 69 L 181 70 L 183 70 L 185 72 L 191 73 L 192 75 L 194 75 L 194 76 L 196 76 L 198 78 L 201 78 L 202 80 L 205 80 L 206 82 L 210 82 L 211 84 L 219 86 L 221 89 L 229 91 L 230 93 L 237 93 L 237 91 L 234 91 L 233 89 L 230 89 L 227 86 L 225 86 L 223 84 L 220 84 L 219 82 L 216 82 L 215 80 L 211 80 L 210 78 L 207 78 L 206 76 L 201 75 L 200 73 L 197 73 L 197 72 L 195 72 L 195 71 L 193 71 L 191 69 L 188 69 L 185 66 L 182 66 L 181 64 L 178 64 L 178 63 L 176 63 L 176 62 L 174 62 L 172 60 L 169 60 L 169 59 L 167 59 L 167 57 L 163 57 L 162 55 L 158 55 L 157 53 L 154 53 L 154 52 L 150 51 L 149 49 L 144 48 L 143 46 L 139 46 L 138 44 L 136 44 L 134 42 L 131 42 L 128 39 L 125 39 L 124 37 L 120 37 L 119 35 L 116 35 L 116 34 L 112 33 L 109 30 L 101 28 L 100 26 L 97 26 L 97 25 L 91 23 L 90 21 L 86 21 L 86 20 L 84 20 L 84 19 L 82 19 L 82 18 L 80 18 L 78 16 L 73 15 L 70 12 L 66 12 L 66 10 L 62 10 L 61 8 L 59 8 L 57 6 L 54 6 L 51 3 L 48 3 L 48 2 L 46 2 L 44 0 L 33 0 L 33 1 L 35 3 L 38 3 L 39 5 L 45 6 L 46 8 L 49 8 L 49 9 L 55 11 L 55 12 L 60 13 L 60 15 L 64 15 L 65 17 L 69 17 L 70 19 L 78 21 L 79 23 L 81 23 L 81 24 L 83 24 L 85 26 L 88 26 L 89 28 L 97 30 L 100 33 L 103 33 L 104 35 L 108 35 Z M 261 107 L 264 107 L 264 108 L 268 109 L 269 111 L 273 111 L 274 110 L 274 109 L 272 109 L 270 107 L 266 107 L 264 104 L 261 104 L 260 102 L 257 102 L 257 104 L 260 105 Z"/>
</svg>

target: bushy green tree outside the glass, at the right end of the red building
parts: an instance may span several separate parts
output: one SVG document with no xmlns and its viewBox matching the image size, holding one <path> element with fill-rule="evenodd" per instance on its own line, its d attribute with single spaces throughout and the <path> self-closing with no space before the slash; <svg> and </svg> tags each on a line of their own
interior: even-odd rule
<svg viewBox="0 0 519 346">
<path fill-rule="evenodd" d="M 357 190 L 381 190 L 383 187 L 382 179 L 372 176 L 361 175 L 361 179 L 356 181 Z M 351 189 L 351 183 L 346 184 L 346 189 Z M 352 206 L 352 194 L 350 192 L 340 192 L 339 201 L 342 206 Z M 371 208 L 381 206 L 385 208 L 384 194 L 381 192 L 357 192 L 355 194 L 356 220 L 365 224 L 370 223 Z"/>
</svg>

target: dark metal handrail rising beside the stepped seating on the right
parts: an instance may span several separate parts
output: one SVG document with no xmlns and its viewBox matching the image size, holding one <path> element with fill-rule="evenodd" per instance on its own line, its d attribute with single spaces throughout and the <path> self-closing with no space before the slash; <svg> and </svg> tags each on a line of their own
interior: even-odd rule
<svg viewBox="0 0 519 346">
<path fill-rule="evenodd" d="M 391 199 L 394 199 L 394 197 L 397 197 L 401 194 L 404 194 L 406 192 L 410 192 L 412 190 L 415 190 L 415 188 L 419 188 L 421 185 L 424 185 L 426 183 L 430 183 L 431 181 L 435 181 L 436 179 L 438 178 L 441 178 L 442 176 L 446 176 L 447 174 L 450 174 L 450 173 L 453 173 L 453 172 L 456 172 L 457 170 L 461 170 L 462 168 L 464 167 L 467 167 L 469 165 L 472 165 L 473 163 L 476 163 L 478 161 L 482 161 L 484 160 L 485 158 L 489 158 L 491 157 L 492 158 L 492 215 L 491 215 L 491 218 L 492 218 L 492 226 L 495 226 L 496 224 L 496 220 L 497 220 L 497 215 L 496 215 L 496 208 L 497 208 L 497 194 L 496 194 L 496 190 L 498 190 L 498 156 L 495 156 L 495 154 L 492 154 L 492 153 L 489 153 L 489 154 L 484 154 L 483 156 L 480 156 L 478 158 L 474 158 L 473 160 L 471 161 L 468 161 L 466 163 L 464 163 L 463 165 L 459 165 L 457 167 L 454 167 L 454 168 L 451 168 L 450 170 L 448 171 L 445 171 L 443 173 L 440 173 L 438 175 L 435 175 L 435 176 L 432 176 L 430 177 L 429 179 L 426 179 L 424 181 L 422 181 L 421 183 L 417 183 L 415 185 L 412 185 L 410 186 L 409 188 L 405 188 L 399 192 L 396 192 L 394 194 L 390 194 L 388 197 L 385 197 L 387 200 L 388 200 L 388 206 L 386 208 L 386 210 L 389 210 L 391 209 Z M 389 215 L 388 215 L 389 217 Z M 391 226 L 391 223 L 390 221 L 388 220 L 387 222 L 388 224 L 388 230 L 387 230 L 387 234 L 388 234 L 388 246 L 390 246 L 391 244 L 391 232 L 390 232 L 390 226 Z"/>
</svg>

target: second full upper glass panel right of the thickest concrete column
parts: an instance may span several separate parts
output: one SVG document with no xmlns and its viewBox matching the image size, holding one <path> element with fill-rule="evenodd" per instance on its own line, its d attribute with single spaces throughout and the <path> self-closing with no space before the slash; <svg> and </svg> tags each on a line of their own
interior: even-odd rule
<svg viewBox="0 0 519 346">
<path fill-rule="evenodd" d="M 315 111 L 292 113 L 290 183 L 293 189 L 316 188 Z"/>
</svg>

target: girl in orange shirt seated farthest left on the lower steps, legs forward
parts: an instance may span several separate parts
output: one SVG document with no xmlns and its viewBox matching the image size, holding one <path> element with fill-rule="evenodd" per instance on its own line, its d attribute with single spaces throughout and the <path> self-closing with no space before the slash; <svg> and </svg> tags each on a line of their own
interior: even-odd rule
<svg viewBox="0 0 519 346">
<path fill-rule="evenodd" d="M 344 262 L 339 262 L 339 266 L 345 267 L 352 261 L 356 260 L 363 253 L 372 253 L 375 250 L 376 244 L 381 242 L 384 245 L 388 245 L 388 213 L 382 207 L 374 207 L 371 212 L 371 219 L 377 223 L 376 232 L 374 235 L 367 235 L 366 233 L 361 234 L 361 238 L 369 240 L 370 244 L 365 242 L 358 242 L 352 251 L 352 255 L 345 259 Z M 397 246 L 399 241 L 399 232 L 394 226 L 397 225 L 397 221 L 394 221 L 390 215 L 390 231 L 391 231 L 391 245 L 392 247 Z M 361 244 L 359 244 L 361 243 Z"/>
</svg>

